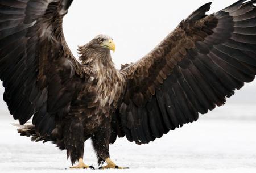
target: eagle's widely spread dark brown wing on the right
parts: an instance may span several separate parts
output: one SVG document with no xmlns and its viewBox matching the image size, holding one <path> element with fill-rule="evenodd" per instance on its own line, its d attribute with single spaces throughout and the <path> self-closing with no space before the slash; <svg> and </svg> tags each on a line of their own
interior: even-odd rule
<svg viewBox="0 0 256 173">
<path fill-rule="evenodd" d="M 126 77 L 111 142 L 146 144 L 226 102 L 256 74 L 256 1 L 205 15 L 197 9 L 152 52 L 122 69 Z"/>
</svg>

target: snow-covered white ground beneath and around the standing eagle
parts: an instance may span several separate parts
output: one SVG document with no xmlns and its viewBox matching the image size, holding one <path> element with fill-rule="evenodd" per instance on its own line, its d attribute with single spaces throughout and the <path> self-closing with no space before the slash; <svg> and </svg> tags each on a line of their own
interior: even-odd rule
<svg viewBox="0 0 256 173">
<path fill-rule="evenodd" d="M 230 111 L 236 110 L 236 111 Z M 110 146 L 112 159 L 130 170 L 71 170 L 65 151 L 16 133 L 14 121 L 0 123 L 0 172 L 256 172 L 256 109 L 229 105 L 201 116 L 148 145 L 125 138 Z M 97 167 L 90 141 L 85 162 Z"/>
</svg>

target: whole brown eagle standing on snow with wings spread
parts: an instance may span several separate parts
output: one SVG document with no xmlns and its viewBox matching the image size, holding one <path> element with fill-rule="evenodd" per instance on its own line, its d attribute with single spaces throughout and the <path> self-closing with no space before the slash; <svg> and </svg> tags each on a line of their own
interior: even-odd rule
<svg viewBox="0 0 256 173">
<path fill-rule="evenodd" d="M 115 164 L 109 145 L 126 137 L 148 144 L 222 106 L 256 75 L 255 0 L 207 15 L 211 3 L 182 20 L 141 60 L 116 69 L 112 37 L 78 47 L 65 41 L 72 0 L 0 1 L 0 79 L 18 133 L 67 150 L 71 168 L 89 138 L 100 168 Z M 32 125 L 25 123 L 32 118 Z"/>
</svg>

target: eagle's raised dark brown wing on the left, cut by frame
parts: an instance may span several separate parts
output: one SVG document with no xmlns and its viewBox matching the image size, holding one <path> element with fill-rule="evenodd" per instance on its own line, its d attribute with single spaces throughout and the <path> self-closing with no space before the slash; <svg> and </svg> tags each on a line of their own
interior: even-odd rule
<svg viewBox="0 0 256 173">
<path fill-rule="evenodd" d="M 76 82 L 86 75 L 62 29 L 72 0 L 0 1 L 0 79 L 4 100 L 20 124 L 33 117 L 36 130 L 51 133 L 67 113 Z"/>
</svg>

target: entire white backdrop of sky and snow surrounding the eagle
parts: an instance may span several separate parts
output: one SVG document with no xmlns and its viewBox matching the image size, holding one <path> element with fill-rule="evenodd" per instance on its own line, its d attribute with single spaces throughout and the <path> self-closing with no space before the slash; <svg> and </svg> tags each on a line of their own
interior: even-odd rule
<svg viewBox="0 0 256 173">
<path fill-rule="evenodd" d="M 94 36 L 104 33 L 113 37 L 117 45 L 113 61 L 119 68 L 120 64 L 139 60 L 182 19 L 207 2 L 75 0 L 65 16 L 64 33 L 75 56 L 77 45 L 84 45 Z M 235 1 L 212 2 L 210 13 Z M 110 147 L 110 154 L 120 166 L 132 168 L 123 172 L 255 172 L 255 87 L 256 82 L 246 84 L 228 99 L 226 106 L 150 145 L 137 146 L 125 138 L 118 140 Z M 3 87 L 0 92 L 2 95 Z M 65 170 L 70 164 L 65 151 L 19 137 L 10 125 L 14 121 L 2 99 L 0 110 L 0 172 L 71 172 Z M 86 142 L 85 159 L 97 167 L 90 142 Z"/>
</svg>

